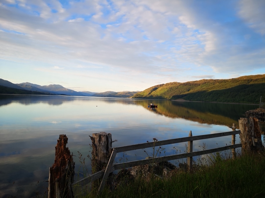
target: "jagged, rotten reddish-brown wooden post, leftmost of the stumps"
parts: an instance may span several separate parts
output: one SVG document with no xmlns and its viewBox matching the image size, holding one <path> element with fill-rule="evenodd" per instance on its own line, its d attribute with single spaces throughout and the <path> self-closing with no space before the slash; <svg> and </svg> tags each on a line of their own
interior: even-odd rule
<svg viewBox="0 0 265 198">
<path fill-rule="evenodd" d="M 74 182 L 74 161 L 68 147 L 68 138 L 60 135 L 55 146 L 55 160 L 49 170 L 48 197 L 72 198 L 72 183 Z"/>
</svg>

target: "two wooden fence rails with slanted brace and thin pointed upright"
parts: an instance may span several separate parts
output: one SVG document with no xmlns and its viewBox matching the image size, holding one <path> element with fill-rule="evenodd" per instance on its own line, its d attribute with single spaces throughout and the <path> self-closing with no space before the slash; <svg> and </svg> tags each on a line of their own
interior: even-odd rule
<svg viewBox="0 0 265 198">
<path fill-rule="evenodd" d="M 223 137 L 223 136 L 228 136 L 228 135 L 236 135 L 240 134 L 240 131 L 228 131 L 224 133 L 214 133 L 214 134 L 207 134 L 207 135 L 197 135 L 197 136 L 192 136 L 190 132 L 190 137 L 185 137 L 185 138 L 176 138 L 176 139 L 171 139 L 171 140 L 162 140 L 162 141 L 157 141 L 157 142 L 147 142 L 143 144 L 135 144 L 135 145 L 129 145 L 129 146 L 120 146 L 120 147 L 115 147 L 112 148 L 112 153 L 108 162 L 108 165 L 106 169 L 101 170 L 93 175 L 90 175 L 84 179 L 81 179 L 72 185 L 78 185 L 78 186 L 85 186 L 89 184 L 89 182 L 95 181 L 96 179 L 100 179 L 102 176 L 101 184 L 99 186 L 99 192 L 101 192 L 105 186 L 105 181 L 108 178 L 108 175 L 112 173 L 114 170 L 119 170 L 122 168 L 129 168 L 133 166 L 139 166 L 139 165 L 145 165 L 149 163 L 155 163 L 155 162 L 162 162 L 162 161 L 169 161 L 169 160 L 177 160 L 177 159 L 182 159 L 182 158 L 187 158 L 191 157 L 191 160 L 188 161 L 188 168 L 192 168 L 192 163 L 189 164 L 189 162 L 192 162 L 192 157 L 194 156 L 199 156 L 199 155 L 204 155 L 204 154 L 209 154 L 209 153 L 215 153 L 219 151 L 225 151 L 228 149 L 235 149 L 241 147 L 241 144 L 234 144 L 234 141 L 232 141 L 232 145 L 229 146 L 224 146 L 224 147 L 219 147 L 215 149 L 207 149 L 203 151 L 195 151 L 192 152 L 192 141 L 195 140 L 204 140 L 204 139 L 209 139 L 209 138 L 218 138 L 218 137 Z M 188 150 L 187 153 L 183 154 L 178 154 L 178 155 L 169 155 L 169 156 L 163 156 L 163 157 L 156 157 L 156 158 L 151 158 L 151 159 L 144 159 L 144 160 L 138 160 L 138 161 L 132 161 L 132 162 L 125 162 L 125 163 L 120 163 L 120 164 L 113 164 L 115 156 L 117 153 L 120 152 L 126 152 L 126 151 L 132 151 L 132 150 L 137 150 L 137 149 L 145 149 L 153 146 L 162 146 L 162 145 L 167 145 L 167 144 L 176 144 L 176 143 L 181 143 L 181 142 L 189 142 L 190 149 Z"/>
</svg>

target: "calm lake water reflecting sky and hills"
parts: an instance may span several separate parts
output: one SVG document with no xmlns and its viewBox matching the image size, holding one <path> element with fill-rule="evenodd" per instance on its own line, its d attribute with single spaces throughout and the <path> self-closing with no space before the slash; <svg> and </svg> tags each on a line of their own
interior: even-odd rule
<svg viewBox="0 0 265 198">
<path fill-rule="evenodd" d="M 158 108 L 150 109 L 155 103 Z M 0 197 L 44 196 L 49 167 L 55 157 L 60 134 L 68 137 L 69 150 L 80 168 L 78 151 L 86 157 L 91 151 L 89 135 L 112 134 L 112 147 L 231 131 L 238 119 L 258 105 L 207 102 L 176 102 L 77 96 L 0 95 Z M 193 142 L 194 151 L 230 144 L 231 137 Z M 239 137 L 236 137 L 239 143 Z M 184 153 L 185 143 L 165 146 L 165 153 Z M 120 153 L 115 161 L 143 159 L 137 150 Z M 163 153 L 164 155 L 164 153 Z M 87 158 L 87 157 L 86 157 Z M 184 159 L 185 160 L 185 159 Z M 90 171 L 89 160 L 86 159 Z"/>
</svg>

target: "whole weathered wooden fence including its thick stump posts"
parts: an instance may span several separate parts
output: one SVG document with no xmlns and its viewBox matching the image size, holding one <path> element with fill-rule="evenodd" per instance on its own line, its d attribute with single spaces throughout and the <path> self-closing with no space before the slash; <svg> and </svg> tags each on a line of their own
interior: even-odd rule
<svg viewBox="0 0 265 198">
<path fill-rule="evenodd" d="M 93 175 L 90 175 L 89 177 L 86 177 L 84 179 L 81 179 L 75 183 L 74 181 L 74 161 L 73 161 L 73 154 L 71 155 L 68 147 L 66 148 L 66 144 L 68 141 L 68 138 L 66 135 L 60 135 L 59 139 L 57 140 L 57 146 L 55 146 L 55 162 L 52 167 L 50 167 L 49 172 L 49 190 L 48 190 L 48 198 L 51 197 L 74 197 L 72 186 L 78 185 L 80 187 L 86 186 L 92 181 L 95 181 L 96 179 L 101 179 L 100 186 L 97 186 L 99 188 L 99 192 L 101 192 L 105 186 L 105 182 L 107 181 L 107 178 L 110 173 L 112 173 L 114 170 L 119 170 L 122 168 L 129 168 L 139 165 L 145 165 L 149 163 L 155 163 L 155 162 L 163 162 L 163 161 L 169 161 L 169 160 L 177 160 L 182 158 L 187 158 L 187 165 L 189 170 L 192 168 L 192 157 L 199 156 L 199 155 L 205 155 L 209 153 L 215 153 L 219 151 L 225 151 L 228 149 L 232 149 L 232 155 L 235 157 L 235 149 L 241 147 L 241 153 L 242 155 L 246 153 L 252 153 L 252 152 L 260 152 L 264 151 L 264 146 L 262 144 L 262 134 L 261 130 L 259 128 L 258 119 L 255 117 L 250 117 L 249 120 L 247 118 L 240 118 L 239 121 L 239 130 L 236 131 L 235 124 L 233 124 L 232 128 L 233 131 L 224 132 L 224 133 L 214 133 L 214 134 L 208 134 L 208 135 L 197 135 L 192 136 L 192 133 L 190 131 L 189 137 L 186 138 L 177 138 L 177 139 L 171 139 L 171 140 L 162 140 L 162 141 L 154 141 L 154 142 L 147 142 L 143 144 L 135 144 L 130 146 L 121 146 L 121 147 L 115 147 L 111 148 L 111 134 L 107 133 L 93 133 L 93 137 L 90 137 L 93 141 L 97 137 L 97 141 L 92 141 L 92 147 L 94 147 L 96 153 L 100 153 L 99 149 L 102 150 L 100 153 L 101 155 L 96 156 L 93 158 L 92 153 L 92 161 L 93 159 L 98 160 L 104 158 L 104 162 L 107 165 L 104 165 L 106 167 L 104 170 L 100 170 L 97 173 L 94 173 Z M 104 133 L 104 134 L 103 134 Z M 103 136 L 106 135 L 107 138 L 103 138 Z M 235 144 L 235 135 L 240 134 L 240 141 L 241 144 Z M 223 146 L 218 147 L 215 149 L 208 149 L 203 151 L 195 151 L 193 152 L 193 141 L 196 140 L 204 140 L 209 138 L 218 138 L 223 136 L 232 135 L 232 142 L 229 146 Z M 138 161 L 132 161 L 132 162 L 125 162 L 120 164 L 113 164 L 115 156 L 117 153 L 120 152 L 126 152 L 126 151 L 133 151 L 137 149 L 145 149 L 149 147 L 154 146 L 162 146 L 167 144 L 176 144 L 181 142 L 188 142 L 188 151 L 187 153 L 183 154 L 176 154 L 176 155 L 169 155 L 169 156 L 163 156 L 163 157 L 155 157 L 155 158 L 149 158 L 144 160 L 138 160 Z M 109 149 L 110 148 L 110 149 Z M 107 151 L 107 152 L 106 152 Z M 108 152 L 111 152 L 110 158 L 108 158 Z M 105 158 L 106 157 L 106 158 Z M 101 162 L 100 162 L 101 163 Z M 99 164 L 100 164 L 99 163 Z M 93 168 L 92 168 L 93 169 Z"/>
</svg>

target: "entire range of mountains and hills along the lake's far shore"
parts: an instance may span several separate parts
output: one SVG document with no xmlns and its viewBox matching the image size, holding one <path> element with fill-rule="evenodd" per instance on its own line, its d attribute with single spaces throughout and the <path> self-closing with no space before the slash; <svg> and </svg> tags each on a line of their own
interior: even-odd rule
<svg viewBox="0 0 265 198">
<path fill-rule="evenodd" d="M 152 100 L 187 100 L 258 104 L 261 96 L 265 96 L 265 74 L 240 76 L 231 79 L 201 79 L 188 82 L 168 82 L 149 87 L 144 91 L 105 91 L 102 93 L 89 91 L 77 92 L 55 84 L 44 86 L 29 82 L 26 82 L 25 84 L 13 84 L 12 82 L 3 79 L 0 79 L 0 85 L 7 85 L 7 87 L 16 87 L 19 85 L 21 86 L 20 89 L 45 91 L 45 94 L 48 92 L 57 95 L 139 98 Z M 0 93 L 3 93 L 3 91 L 0 90 Z M 12 91 L 9 90 L 8 93 L 12 93 Z"/>
</svg>

